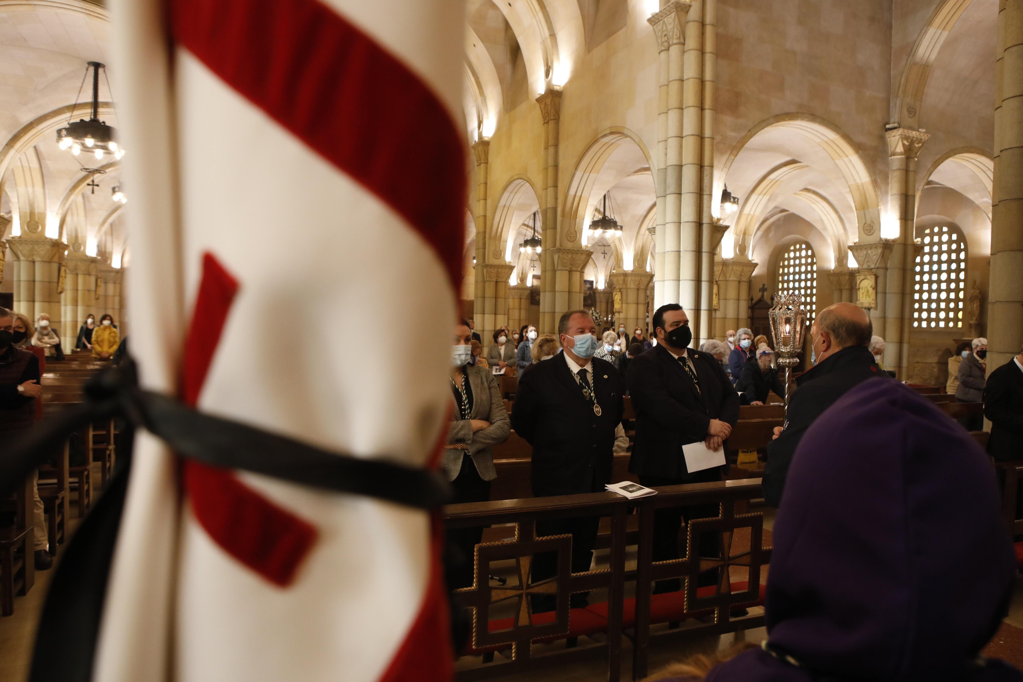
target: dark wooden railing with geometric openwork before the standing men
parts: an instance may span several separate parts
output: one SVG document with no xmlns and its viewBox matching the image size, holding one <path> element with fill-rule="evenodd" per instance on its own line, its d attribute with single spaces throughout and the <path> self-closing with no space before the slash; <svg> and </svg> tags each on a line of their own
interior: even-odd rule
<svg viewBox="0 0 1023 682">
<path fill-rule="evenodd" d="M 770 560 L 770 549 L 763 547 L 763 514 L 747 512 L 749 502 L 761 497 L 760 479 L 672 485 L 658 491 L 655 496 L 631 501 L 612 493 L 595 493 L 445 507 L 448 528 L 514 527 L 507 540 L 477 546 L 474 586 L 455 592 L 457 603 L 471 609 L 472 616 L 471 639 L 460 652 L 457 679 L 491 679 L 603 655 L 607 679 L 615 682 L 621 675 L 623 635 L 632 640 L 632 675 L 639 679 L 647 675 L 652 640 L 690 640 L 763 626 L 762 613 L 740 615 L 746 607 L 762 604 L 761 567 Z M 679 551 L 698 548 L 700 535 L 713 532 L 721 539 L 718 546 L 724 555 L 654 562 L 655 512 L 707 504 L 717 504 L 718 515 L 683 526 Z M 610 537 L 604 545 L 610 551 L 610 565 L 573 573 L 572 537 L 537 538 L 535 525 L 537 521 L 587 516 L 610 520 Z M 628 526 L 637 526 L 638 532 L 628 532 Z M 625 561 L 630 538 L 638 540 L 634 569 L 626 568 Z M 529 566 L 533 555 L 540 552 L 557 552 L 559 570 L 554 578 L 534 583 Z M 507 583 L 492 584 L 490 577 L 509 566 L 513 574 Z M 699 577 L 708 573 L 717 574 L 717 587 L 698 586 Z M 654 582 L 672 578 L 682 579 L 682 591 L 652 595 Z M 634 584 L 633 598 L 626 598 L 627 583 Z M 585 608 L 570 607 L 571 594 L 605 590 L 607 601 L 591 602 Z M 555 610 L 533 613 L 533 594 L 557 595 Z M 495 617 L 496 605 L 509 600 L 514 601 L 510 616 Z M 656 624 L 668 624 L 668 629 L 652 633 L 651 626 Z M 580 637 L 589 638 L 591 643 L 578 646 Z M 562 640 L 564 648 L 547 646 Z"/>
</svg>

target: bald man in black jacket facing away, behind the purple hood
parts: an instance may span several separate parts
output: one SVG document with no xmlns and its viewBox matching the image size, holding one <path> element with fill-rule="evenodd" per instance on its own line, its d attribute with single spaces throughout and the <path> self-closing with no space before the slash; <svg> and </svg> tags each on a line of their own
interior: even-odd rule
<svg viewBox="0 0 1023 682">
<path fill-rule="evenodd" d="M 810 327 L 816 365 L 796 378 L 785 426 L 774 429 L 767 444 L 764 500 L 772 507 L 782 502 L 789 464 L 803 433 L 833 402 L 853 386 L 888 375 L 878 368 L 870 350 L 874 326 L 866 311 L 854 303 L 836 303 L 817 314 Z"/>
</svg>

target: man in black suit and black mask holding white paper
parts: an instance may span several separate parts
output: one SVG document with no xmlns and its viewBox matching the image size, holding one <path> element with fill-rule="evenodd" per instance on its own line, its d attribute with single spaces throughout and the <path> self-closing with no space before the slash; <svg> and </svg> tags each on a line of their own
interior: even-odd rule
<svg viewBox="0 0 1023 682">
<path fill-rule="evenodd" d="M 629 471 L 647 486 L 721 480 L 718 467 L 690 472 L 682 445 L 703 441 L 721 450 L 739 421 L 739 394 L 721 364 L 688 347 L 690 318 L 677 303 L 654 313 L 657 345 L 632 360 L 627 377 L 635 411 L 635 443 Z M 678 530 L 687 519 L 717 516 L 717 505 L 658 510 L 654 516 L 654 561 L 678 557 Z M 717 556 L 715 534 L 700 538 L 701 556 Z M 702 579 L 715 582 L 712 572 Z M 678 580 L 661 581 L 654 592 L 674 592 Z"/>
</svg>

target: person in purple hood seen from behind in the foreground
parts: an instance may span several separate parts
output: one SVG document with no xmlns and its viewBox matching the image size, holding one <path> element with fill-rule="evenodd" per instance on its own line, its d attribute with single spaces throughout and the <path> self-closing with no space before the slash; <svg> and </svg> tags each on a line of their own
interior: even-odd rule
<svg viewBox="0 0 1023 682">
<path fill-rule="evenodd" d="M 708 682 L 1023 680 L 977 658 L 1015 561 L 995 476 L 954 421 L 894 381 L 807 429 L 774 522 L 763 648 Z"/>
</svg>

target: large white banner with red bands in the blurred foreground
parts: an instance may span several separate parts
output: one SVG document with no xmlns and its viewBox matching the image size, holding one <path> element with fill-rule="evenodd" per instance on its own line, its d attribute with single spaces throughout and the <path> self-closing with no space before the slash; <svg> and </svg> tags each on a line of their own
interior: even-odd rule
<svg viewBox="0 0 1023 682">
<path fill-rule="evenodd" d="M 434 466 L 461 3 L 112 4 L 143 387 Z M 429 513 L 182 463 L 143 433 L 93 679 L 449 679 L 439 553 Z"/>
</svg>

